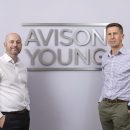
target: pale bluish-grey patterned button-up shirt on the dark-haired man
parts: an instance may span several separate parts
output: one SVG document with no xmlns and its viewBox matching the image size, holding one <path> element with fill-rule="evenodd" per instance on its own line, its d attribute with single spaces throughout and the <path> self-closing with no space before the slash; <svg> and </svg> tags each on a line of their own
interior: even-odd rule
<svg viewBox="0 0 130 130">
<path fill-rule="evenodd" d="M 130 50 L 122 47 L 116 55 L 104 54 L 102 70 L 104 85 L 100 101 L 102 98 L 130 101 Z"/>
</svg>

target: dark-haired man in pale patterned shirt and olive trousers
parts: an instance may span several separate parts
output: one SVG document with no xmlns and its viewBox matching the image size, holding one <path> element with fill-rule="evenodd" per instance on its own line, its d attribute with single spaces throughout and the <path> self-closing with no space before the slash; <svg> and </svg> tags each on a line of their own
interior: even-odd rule
<svg viewBox="0 0 130 130">
<path fill-rule="evenodd" d="M 130 130 L 130 51 L 123 46 L 123 27 L 106 26 L 110 51 L 102 58 L 104 85 L 99 100 L 103 130 Z"/>
</svg>

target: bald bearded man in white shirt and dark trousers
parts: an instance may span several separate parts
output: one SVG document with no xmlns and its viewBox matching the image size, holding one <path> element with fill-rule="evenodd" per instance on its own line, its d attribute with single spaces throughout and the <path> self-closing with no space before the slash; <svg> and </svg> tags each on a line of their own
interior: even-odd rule
<svg viewBox="0 0 130 130">
<path fill-rule="evenodd" d="M 5 54 L 0 57 L 0 130 L 29 130 L 27 69 L 18 58 L 21 37 L 8 34 L 4 47 Z"/>
</svg>

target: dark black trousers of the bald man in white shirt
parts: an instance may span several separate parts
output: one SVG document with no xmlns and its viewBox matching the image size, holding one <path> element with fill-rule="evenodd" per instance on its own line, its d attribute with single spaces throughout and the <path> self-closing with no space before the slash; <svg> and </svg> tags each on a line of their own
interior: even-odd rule
<svg viewBox="0 0 130 130">
<path fill-rule="evenodd" d="M 6 118 L 0 130 L 29 130 L 30 115 L 28 110 L 22 112 L 2 112 Z"/>
</svg>

